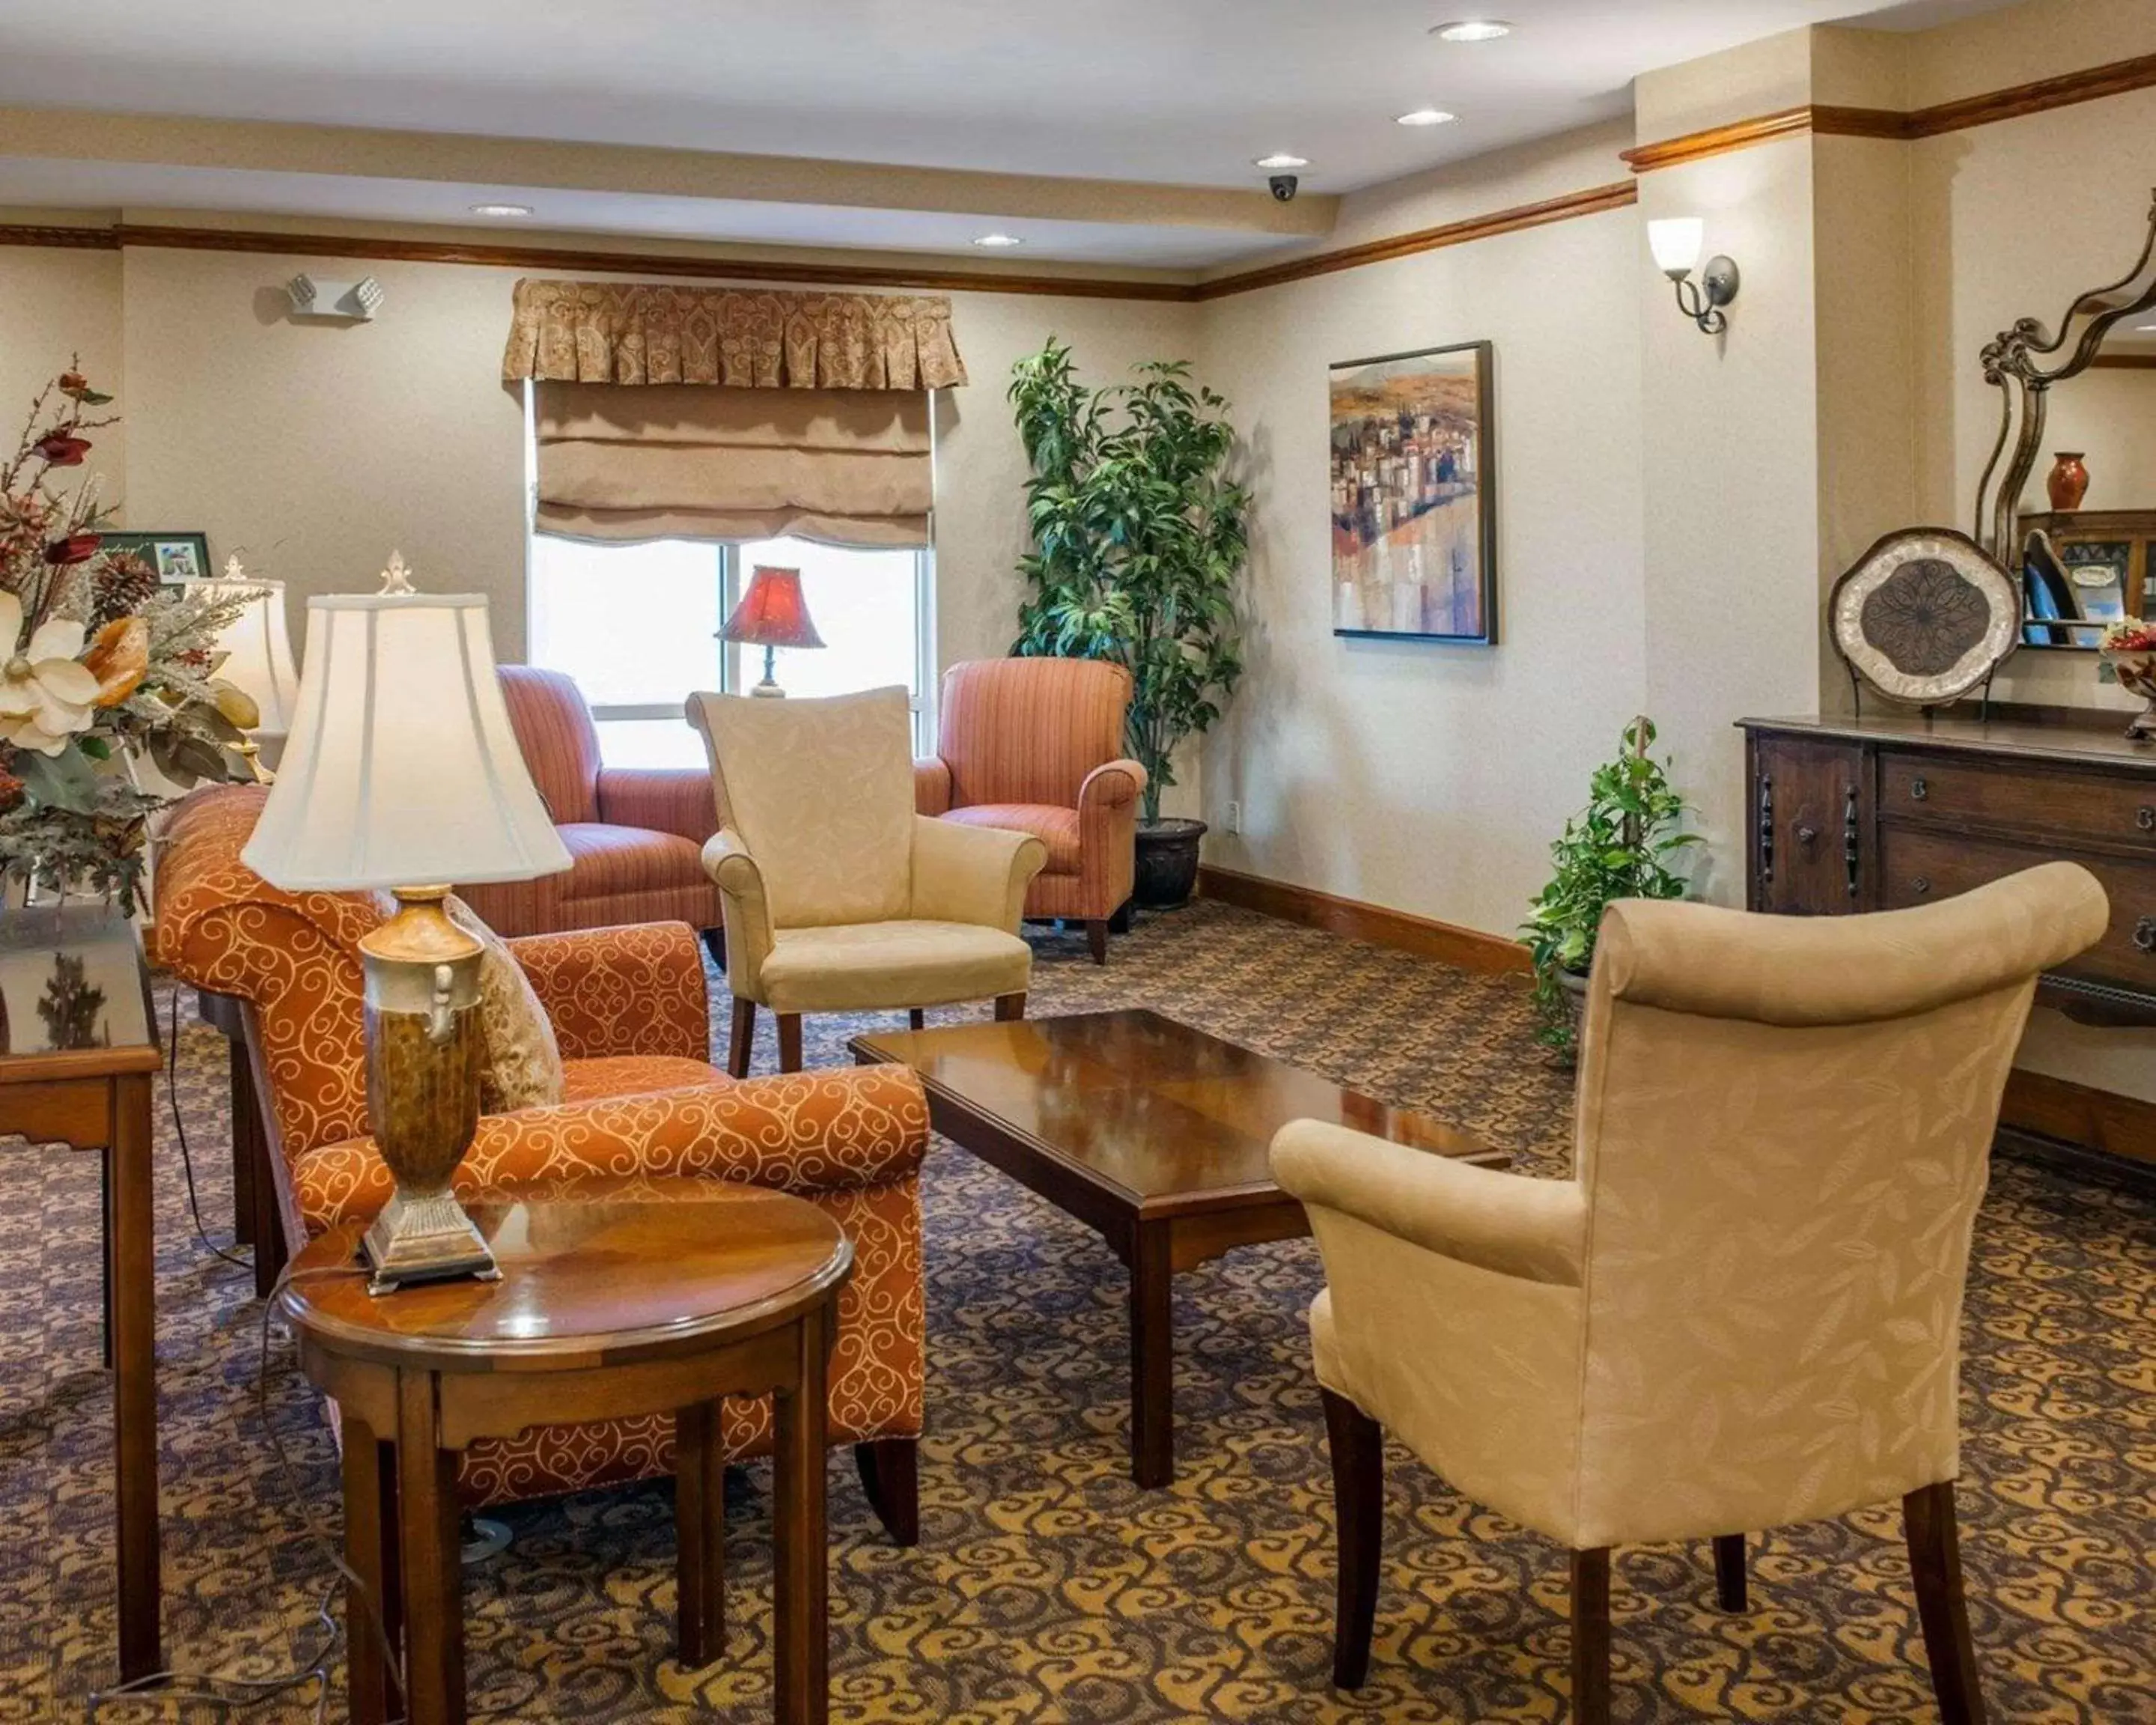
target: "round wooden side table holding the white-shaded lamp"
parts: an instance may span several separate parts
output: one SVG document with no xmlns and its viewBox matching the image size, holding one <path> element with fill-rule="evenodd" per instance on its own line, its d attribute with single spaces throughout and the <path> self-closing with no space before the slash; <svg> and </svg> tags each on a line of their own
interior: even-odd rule
<svg viewBox="0 0 2156 1725">
<path fill-rule="evenodd" d="M 679 1647 L 722 1645 L 722 1395 L 776 1414 L 772 1688 L 780 1725 L 828 1701 L 826 1365 L 854 1248 L 815 1205 L 705 1179 L 578 1179 L 470 1203 L 502 1279 L 369 1296 L 360 1225 L 291 1266 L 300 1365 L 343 1412 L 354 1725 L 464 1723 L 457 1451 L 533 1425 L 675 1417 Z M 345 1274 L 349 1270 L 349 1274 Z M 379 1617 L 375 1615 L 379 1609 Z M 379 1632 L 377 1632 L 379 1626 Z"/>
</svg>

